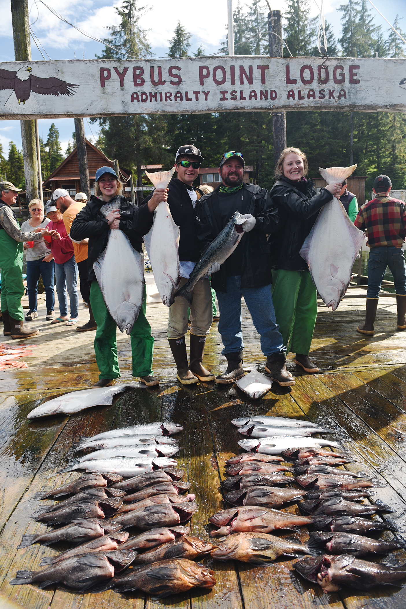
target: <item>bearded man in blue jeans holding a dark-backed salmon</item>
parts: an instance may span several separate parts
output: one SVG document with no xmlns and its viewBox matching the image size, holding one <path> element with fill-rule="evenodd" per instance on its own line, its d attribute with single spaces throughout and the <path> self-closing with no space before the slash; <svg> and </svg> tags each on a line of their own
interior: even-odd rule
<svg viewBox="0 0 406 609">
<path fill-rule="evenodd" d="M 232 383 L 244 375 L 241 331 L 241 298 L 261 335 L 261 350 L 267 357 L 265 370 L 284 387 L 295 380 L 285 368 L 286 347 L 275 320 L 271 294 L 271 261 L 267 233 L 279 228 L 278 211 L 268 192 L 256 184 L 243 182 L 245 161 L 241 152 L 225 152 L 220 161 L 222 183 L 200 200 L 197 211 L 197 238 L 201 250 L 217 237 L 236 211 L 243 214 L 244 236 L 221 268 L 212 265 L 211 285 L 220 307 L 219 333 L 222 335 L 226 371 L 217 383 Z"/>
</svg>

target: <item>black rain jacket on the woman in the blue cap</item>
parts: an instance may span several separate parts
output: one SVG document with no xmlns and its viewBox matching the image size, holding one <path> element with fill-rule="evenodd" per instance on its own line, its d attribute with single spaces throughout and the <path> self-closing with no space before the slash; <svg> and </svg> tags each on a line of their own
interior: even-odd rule
<svg viewBox="0 0 406 609">
<path fill-rule="evenodd" d="M 111 199 L 110 203 L 117 202 L 117 209 L 121 214 L 119 228 L 130 239 L 130 243 L 137 252 L 142 251 L 141 234 L 133 230 L 133 216 L 136 209 L 131 201 L 127 201 L 124 197 L 118 195 Z M 85 207 L 80 210 L 75 217 L 71 226 L 71 238 L 75 241 L 89 238 L 88 245 L 88 282 L 96 280 L 96 275 L 93 270 L 93 263 L 96 262 L 100 254 L 107 247 L 108 222 L 100 211 L 100 208 L 105 205 L 103 199 L 99 199 L 91 195 Z M 117 269 L 119 272 L 119 269 Z"/>
</svg>

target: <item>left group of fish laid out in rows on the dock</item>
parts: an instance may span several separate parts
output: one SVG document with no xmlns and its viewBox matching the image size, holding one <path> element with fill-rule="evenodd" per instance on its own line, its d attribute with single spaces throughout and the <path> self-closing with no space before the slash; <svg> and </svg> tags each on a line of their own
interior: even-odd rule
<svg viewBox="0 0 406 609">
<path fill-rule="evenodd" d="M 11 583 L 39 588 L 61 584 L 81 592 L 141 590 L 159 597 L 195 587 L 211 588 L 214 572 L 194 561 L 208 555 L 213 545 L 191 537 L 186 524 L 197 510 L 195 495 L 187 493 L 191 484 L 181 481 L 184 471 L 177 468 L 175 460 L 158 456 L 178 452 L 177 446 L 161 444 L 159 438 L 164 437 L 161 433 L 181 429 L 175 423 L 149 423 L 83 438 L 74 445 L 73 451 L 96 451 L 79 457 L 64 471 L 92 465 L 94 473 L 37 493 L 36 499 L 61 500 L 38 507 L 32 518 L 60 528 L 37 535 L 27 533 L 18 547 L 58 541 L 69 541 L 75 547 L 43 557 L 40 571 L 18 571 Z M 150 438 L 149 443 L 113 444 L 116 438 L 122 442 L 139 437 Z M 136 476 L 131 475 L 137 470 L 128 465 L 130 460 L 138 464 Z M 131 477 L 124 479 L 126 474 Z M 130 537 L 125 529 L 134 527 L 138 534 Z M 123 574 L 130 565 L 131 571 Z"/>
</svg>

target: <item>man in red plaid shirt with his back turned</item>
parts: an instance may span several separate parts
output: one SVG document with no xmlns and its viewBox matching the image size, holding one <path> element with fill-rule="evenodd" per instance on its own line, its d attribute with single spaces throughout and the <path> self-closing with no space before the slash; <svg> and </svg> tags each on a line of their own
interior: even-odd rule
<svg viewBox="0 0 406 609">
<path fill-rule="evenodd" d="M 406 205 L 390 196 L 392 182 L 387 175 L 378 175 L 373 191 L 376 197 L 365 203 L 354 220 L 360 230 L 366 230 L 368 259 L 368 290 L 366 292 L 365 323 L 358 326 L 360 334 L 374 334 L 374 321 L 379 290 L 387 266 L 396 288 L 397 328 L 406 328 L 406 265 L 402 248 L 406 234 Z"/>
</svg>

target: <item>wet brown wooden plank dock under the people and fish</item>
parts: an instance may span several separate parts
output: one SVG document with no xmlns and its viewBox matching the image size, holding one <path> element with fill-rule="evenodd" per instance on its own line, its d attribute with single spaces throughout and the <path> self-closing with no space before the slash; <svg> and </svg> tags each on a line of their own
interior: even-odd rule
<svg viewBox="0 0 406 609">
<path fill-rule="evenodd" d="M 315 376 L 301 374 L 289 356 L 288 368 L 296 377 L 291 390 L 277 385 L 264 399 L 250 401 L 235 385 L 181 387 L 175 379 L 166 340 L 167 309 L 148 305 L 147 316 L 155 336 L 155 374 L 162 381 L 159 388 L 127 392 L 118 396 L 113 406 L 85 410 L 72 417 L 28 421 L 28 412 L 44 399 L 85 389 L 98 376 L 94 333 L 78 333 L 75 326 L 51 326 L 41 305 L 39 317 L 32 323 L 41 328 L 40 336 L 32 341 L 38 347 L 33 356 L 22 358 L 29 368 L 0 373 L 0 608 L 404 609 L 406 588 L 380 586 L 360 594 L 354 588 L 343 588 L 339 593 L 323 594 L 319 586 L 296 576 L 289 560 L 278 560 L 267 568 L 251 568 L 234 561 L 206 559 L 205 564 L 211 565 L 217 577 L 212 591 L 192 590 L 191 594 L 159 601 L 138 593 L 125 597 L 113 591 L 83 595 L 63 588 L 39 590 L 36 586 L 9 584 L 17 569 L 38 569 L 41 557 L 67 548 L 63 544 L 35 544 L 16 549 L 24 533 L 46 530 L 30 518 L 37 506 L 35 492 L 77 477 L 72 473 L 46 478 L 66 465 L 72 442 L 80 435 L 153 420 L 172 420 L 184 426 L 178 462 L 184 464 L 185 479 L 192 483 L 191 491 L 199 504 L 191 523 L 194 535 L 208 539 L 208 516 L 224 507 L 218 490 L 223 463 L 239 452 L 238 434 L 230 421 L 253 413 L 306 417 L 334 429 L 332 439 L 355 460 L 346 467 L 387 482 L 386 487 L 377 489 L 374 499 L 382 499 L 396 510 L 391 518 L 406 531 L 406 332 L 396 329 L 395 299 L 383 297 L 375 336 L 358 334 L 355 328 L 363 320 L 365 290 L 353 289 L 351 295 L 341 303 L 334 320 L 319 301 L 312 359 L 321 371 Z M 87 309 L 80 306 L 80 322 L 86 319 Z M 243 333 L 244 365 L 259 364 L 263 371 L 265 359 L 259 350 L 259 336 L 245 306 Z M 127 336 L 119 334 L 117 338 L 125 380 L 131 377 L 130 342 Z M 1 339 L 18 344 L 10 337 Z M 214 324 L 206 342 L 205 364 L 216 373 L 225 369 L 221 348 Z M 286 510 L 299 513 L 297 507 Z M 306 529 L 298 537 L 307 540 Z M 390 560 L 404 563 L 406 552 L 394 553 Z"/>
</svg>

